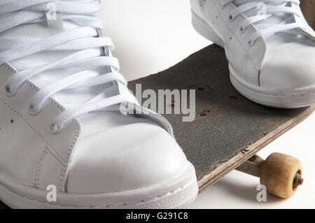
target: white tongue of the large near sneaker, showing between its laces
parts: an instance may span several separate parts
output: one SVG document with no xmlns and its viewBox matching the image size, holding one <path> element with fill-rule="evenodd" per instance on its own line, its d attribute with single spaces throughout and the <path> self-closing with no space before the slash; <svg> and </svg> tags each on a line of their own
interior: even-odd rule
<svg viewBox="0 0 315 223">
<path fill-rule="evenodd" d="M 73 0 L 74 1 L 74 0 Z M 58 34 L 62 31 L 76 29 L 80 27 L 78 24 L 71 22 L 69 20 L 64 20 L 62 22 L 62 27 L 49 27 L 46 22 L 42 23 L 31 23 L 31 24 L 22 24 L 18 27 L 14 27 L 3 33 L 0 33 L 2 37 L 16 37 L 16 38 L 36 38 L 42 39 L 54 34 Z M 41 62 L 49 63 L 55 62 L 59 59 L 71 55 L 76 51 L 46 51 L 38 52 L 34 55 L 22 58 L 23 60 L 28 60 L 32 62 Z M 18 69 L 18 60 L 12 61 L 10 64 Z M 108 73 L 108 68 L 102 69 L 89 69 L 95 73 L 95 75 L 101 75 Z M 82 71 L 75 68 L 66 68 L 66 69 L 56 69 L 52 71 L 46 71 L 44 73 L 36 75 L 34 78 L 31 78 L 31 82 L 34 82 L 37 86 L 45 86 L 54 80 L 60 80 L 65 78 L 68 75 Z M 86 69 L 85 69 L 86 71 Z M 118 85 L 118 86 L 117 86 Z M 97 96 L 98 99 L 105 99 L 110 96 L 118 94 L 118 87 L 120 83 L 110 82 L 106 85 L 99 85 L 97 87 L 86 87 L 80 89 L 71 89 L 71 90 L 62 90 L 57 94 L 52 95 L 52 98 L 55 99 L 65 108 L 67 105 L 80 104 L 89 101 L 90 99 Z M 80 117 L 80 124 L 85 135 L 93 134 L 97 131 L 104 131 L 104 129 L 109 129 L 112 127 L 117 127 L 124 124 L 130 124 L 139 122 L 139 119 L 130 119 L 130 117 L 125 117 L 119 111 L 108 111 L 108 112 L 91 112 L 83 117 Z M 151 123 L 151 121 L 148 121 Z M 92 124 L 91 124 L 92 123 Z"/>
</svg>

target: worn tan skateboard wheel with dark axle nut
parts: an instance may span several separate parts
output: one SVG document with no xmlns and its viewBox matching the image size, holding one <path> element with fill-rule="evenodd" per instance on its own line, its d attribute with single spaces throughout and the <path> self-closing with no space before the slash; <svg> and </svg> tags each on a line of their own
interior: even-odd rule
<svg viewBox="0 0 315 223">
<path fill-rule="evenodd" d="M 270 194 L 288 199 L 302 183 L 302 164 L 295 157 L 275 152 L 262 164 L 260 184 Z"/>
</svg>

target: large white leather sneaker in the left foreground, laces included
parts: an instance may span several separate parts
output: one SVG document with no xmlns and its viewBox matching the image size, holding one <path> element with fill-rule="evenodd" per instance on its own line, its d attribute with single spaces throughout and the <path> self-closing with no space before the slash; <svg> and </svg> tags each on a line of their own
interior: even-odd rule
<svg viewBox="0 0 315 223">
<path fill-rule="evenodd" d="M 169 123 L 120 113 L 123 102 L 141 107 L 100 7 L 0 1 L 0 199 L 10 207 L 176 208 L 197 196 Z"/>
</svg>

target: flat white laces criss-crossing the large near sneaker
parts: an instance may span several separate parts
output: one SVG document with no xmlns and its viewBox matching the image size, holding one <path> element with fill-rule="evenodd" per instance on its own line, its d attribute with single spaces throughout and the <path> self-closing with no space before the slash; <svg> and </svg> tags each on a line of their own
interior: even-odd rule
<svg viewBox="0 0 315 223">
<path fill-rule="evenodd" d="M 18 64 L 22 68 L 6 81 L 3 86 L 6 94 L 13 96 L 25 81 L 50 69 L 76 67 L 87 70 L 102 66 L 109 67 L 109 72 L 102 75 L 83 70 L 40 87 L 30 102 L 31 115 L 38 114 L 43 103 L 52 94 L 62 89 L 93 87 L 113 81 L 119 82 L 125 88 L 116 96 L 100 99 L 101 97 L 97 95 L 86 103 L 67 107 L 51 124 L 52 134 L 59 132 L 69 120 L 91 111 L 106 110 L 110 106 L 123 102 L 137 103 L 134 96 L 127 90 L 125 78 L 118 73 L 120 69 L 118 59 L 111 57 L 110 52 L 109 56 L 104 56 L 104 49 L 113 50 L 114 45 L 111 38 L 98 34 L 97 29 L 102 29 L 102 21 L 94 17 L 94 14 L 101 10 L 98 1 L 2 0 L 0 2 L 0 33 L 20 24 L 47 22 L 48 3 L 55 4 L 57 12 L 62 15 L 62 20 L 71 20 L 80 27 L 43 39 L 0 38 L 0 64 L 20 59 Z M 56 62 L 45 64 L 21 59 L 44 50 L 76 50 L 76 52 Z"/>
</svg>

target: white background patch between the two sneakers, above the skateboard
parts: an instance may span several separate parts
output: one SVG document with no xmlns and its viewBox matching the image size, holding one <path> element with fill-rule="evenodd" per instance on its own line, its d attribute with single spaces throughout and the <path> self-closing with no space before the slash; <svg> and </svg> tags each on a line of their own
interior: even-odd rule
<svg viewBox="0 0 315 223">
<path fill-rule="evenodd" d="M 187 0 L 103 0 L 102 5 L 99 17 L 127 80 L 167 69 L 209 45 L 191 27 Z"/>
</svg>

